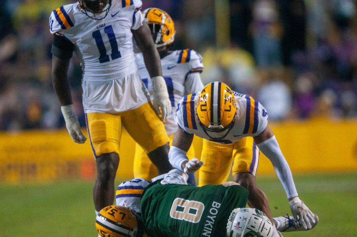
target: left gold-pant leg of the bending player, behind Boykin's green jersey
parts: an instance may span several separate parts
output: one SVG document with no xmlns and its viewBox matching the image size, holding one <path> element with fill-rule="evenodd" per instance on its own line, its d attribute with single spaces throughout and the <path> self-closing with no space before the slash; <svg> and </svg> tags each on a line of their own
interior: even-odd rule
<svg viewBox="0 0 357 237">
<path fill-rule="evenodd" d="M 233 145 L 203 140 L 198 186 L 219 185 L 227 181 L 232 167 Z"/>
</svg>

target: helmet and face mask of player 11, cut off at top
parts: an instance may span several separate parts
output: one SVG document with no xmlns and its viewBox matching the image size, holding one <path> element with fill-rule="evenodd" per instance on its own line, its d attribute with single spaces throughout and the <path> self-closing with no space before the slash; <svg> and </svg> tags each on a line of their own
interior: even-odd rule
<svg viewBox="0 0 357 237">
<path fill-rule="evenodd" d="M 108 15 L 112 0 L 77 0 L 77 2 L 84 14 L 91 19 L 101 20 Z M 103 12 L 105 14 L 101 15 Z"/>
</svg>

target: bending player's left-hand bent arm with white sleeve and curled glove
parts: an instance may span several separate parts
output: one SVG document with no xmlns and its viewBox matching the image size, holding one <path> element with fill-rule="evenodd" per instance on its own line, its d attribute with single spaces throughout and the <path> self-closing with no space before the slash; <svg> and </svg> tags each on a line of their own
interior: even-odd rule
<svg viewBox="0 0 357 237">
<path fill-rule="evenodd" d="M 193 134 L 187 133 L 181 128 L 177 130 L 172 140 L 172 146 L 169 151 L 169 161 L 172 166 L 179 170 L 183 170 L 185 173 L 194 173 L 202 165 L 202 161 L 198 161 L 197 158 L 188 160 L 187 151 L 190 149 L 193 140 Z"/>
</svg>

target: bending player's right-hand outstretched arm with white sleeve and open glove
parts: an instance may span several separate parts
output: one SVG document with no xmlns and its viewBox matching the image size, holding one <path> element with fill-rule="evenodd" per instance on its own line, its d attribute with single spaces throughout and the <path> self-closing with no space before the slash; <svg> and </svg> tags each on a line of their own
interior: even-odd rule
<svg viewBox="0 0 357 237">
<path fill-rule="evenodd" d="M 280 150 L 273 131 L 270 127 L 266 126 L 265 130 L 260 135 L 253 137 L 253 139 L 258 148 L 273 164 L 274 170 L 287 194 L 294 220 L 297 222 L 299 219 L 298 225 L 302 225 L 305 229 L 311 229 L 312 223 L 315 223 L 318 218 L 299 199 L 290 167 Z"/>
</svg>

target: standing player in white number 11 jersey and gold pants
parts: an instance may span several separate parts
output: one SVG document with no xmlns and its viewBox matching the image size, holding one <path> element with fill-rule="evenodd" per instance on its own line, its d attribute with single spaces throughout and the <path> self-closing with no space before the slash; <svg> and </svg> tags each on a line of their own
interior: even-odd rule
<svg viewBox="0 0 357 237">
<path fill-rule="evenodd" d="M 148 153 L 159 173 L 172 168 L 167 158 L 169 138 L 154 111 L 165 120 L 171 112 L 169 94 L 141 4 L 141 0 L 78 0 L 50 16 L 52 82 L 67 130 L 77 143 L 84 143 L 86 137 L 73 109 L 67 71 L 73 52 L 81 60 L 83 106 L 97 166 L 96 211 L 114 201 L 122 125 Z M 151 77 L 153 105 L 137 73 L 133 38 Z"/>
</svg>

